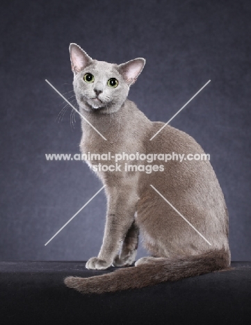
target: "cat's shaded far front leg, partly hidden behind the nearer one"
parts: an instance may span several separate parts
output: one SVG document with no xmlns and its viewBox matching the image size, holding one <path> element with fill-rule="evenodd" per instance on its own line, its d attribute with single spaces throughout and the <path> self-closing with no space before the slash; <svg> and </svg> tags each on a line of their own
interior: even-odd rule
<svg viewBox="0 0 251 325">
<path fill-rule="evenodd" d="M 133 222 L 124 238 L 120 254 L 113 261 L 115 267 L 127 267 L 134 263 L 138 249 L 138 235 L 138 226 Z"/>
</svg>

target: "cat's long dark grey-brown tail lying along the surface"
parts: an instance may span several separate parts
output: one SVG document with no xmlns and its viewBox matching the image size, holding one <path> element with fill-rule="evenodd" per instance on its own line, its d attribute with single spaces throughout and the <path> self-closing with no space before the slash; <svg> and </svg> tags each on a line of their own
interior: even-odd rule
<svg viewBox="0 0 251 325">
<path fill-rule="evenodd" d="M 114 272 L 90 278 L 68 276 L 65 285 L 81 293 L 115 292 L 143 288 L 165 281 L 177 281 L 189 276 L 198 276 L 220 269 L 229 269 L 229 251 L 220 249 L 198 256 L 163 258 L 136 267 L 125 267 Z"/>
</svg>

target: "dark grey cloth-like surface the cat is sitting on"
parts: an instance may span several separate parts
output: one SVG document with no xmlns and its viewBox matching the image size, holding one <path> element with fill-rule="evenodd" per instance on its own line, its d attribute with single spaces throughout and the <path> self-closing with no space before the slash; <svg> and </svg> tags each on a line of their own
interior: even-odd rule
<svg viewBox="0 0 251 325">
<path fill-rule="evenodd" d="M 1 324 L 250 324 L 251 263 L 234 262 L 174 283 L 106 294 L 80 294 L 66 276 L 114 271 L 83 262 L 0 262 Z"/>
</svg>

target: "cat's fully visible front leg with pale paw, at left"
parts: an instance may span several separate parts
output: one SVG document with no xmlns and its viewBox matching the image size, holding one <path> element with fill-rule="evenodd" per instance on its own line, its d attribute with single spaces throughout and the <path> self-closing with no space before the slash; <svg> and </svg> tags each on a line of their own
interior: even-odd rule
<svg viewBox="0 0 251 325">
<path fill-rule="evenodd" d="M 99 255 L 90 258 L 86 263 L 87 269 L 107 269 L 110 267 L 120 250 L 122 240 L 133 224 L 138 203 L 138 195 L 135 189 L 128 184 L 124 184 L 121 188 L 109 188 L 107 186 L 106 194 L 108 208 L 103 244 Z"/>
</svg>

